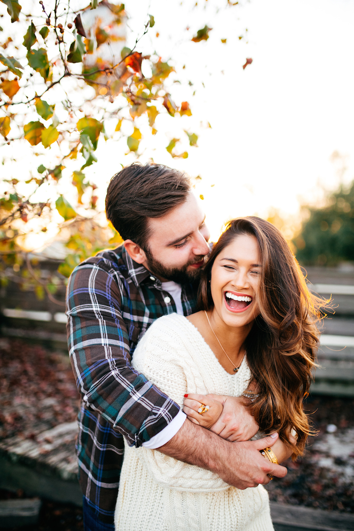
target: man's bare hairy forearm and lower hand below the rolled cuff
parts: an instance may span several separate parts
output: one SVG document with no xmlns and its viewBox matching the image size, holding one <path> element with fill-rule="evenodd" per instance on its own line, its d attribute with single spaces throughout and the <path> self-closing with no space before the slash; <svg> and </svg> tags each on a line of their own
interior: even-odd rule
<svg viewBox="0 0 354 531">
<path fill-rule="evenodd" d="M 237 489 L 247 489 L 269 483 L 267 474 L 286 476 L 286 468 L 264 459 L 260 453 L 260 450 L 273 446 L 277 439 L 275 433 L 257 441 L 229 442 L 187 419 L 176 435 L 158 450 L 185 463 L 211 470 Z"/>
</svg>

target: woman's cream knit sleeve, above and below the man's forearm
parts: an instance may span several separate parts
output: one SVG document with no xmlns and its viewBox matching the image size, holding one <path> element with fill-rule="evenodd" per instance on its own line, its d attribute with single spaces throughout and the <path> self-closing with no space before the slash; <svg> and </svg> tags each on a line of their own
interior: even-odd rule
<svg viewBox="0 0 354 531">
<path fill-rule="evenodd" d="M 171 319 L 172 318 L 172 319 Z M 193 362 L 197 345 L 189 344 L 186 327 L 169 327 L 174 316 L 166 316 L 156 321 L 146 332 L 134 353 L 134 366 L 156 384 L 161 391 L 182 407 L 183 395 L 191 389 L 203 392 L 203 382 Z M 160 321 L 160 322 L 159 322 Z M 183 322 L 183 320 L 181 321 Z M 173 323 L 175 324 L 175 323 Z M 187 323 L 187 327 L 189 323 Z M 205 392 L 205 391 L 204 391 Z M 176 490 L 193 492 L 220 491 L 229 488 L 222 479 L 210 470 L 182 463 L 166 456 L 158 450 L 131 448 L 149 470 L 156 481 Z"/>
</svg>

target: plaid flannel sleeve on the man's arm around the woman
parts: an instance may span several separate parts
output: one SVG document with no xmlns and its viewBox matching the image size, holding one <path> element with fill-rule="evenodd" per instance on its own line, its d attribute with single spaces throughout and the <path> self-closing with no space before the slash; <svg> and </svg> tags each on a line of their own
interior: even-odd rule
<svg viewBox="0 0 354 531">
<path fill-rule="evenodd" d="M 179 407 L 131 366 L 129 342 L 134 335 L 137 340 L 139 329 L 126 327 L 123 316 L 128 309 L 122 307 L 122 297 L 127 286 L 114 274 L 109 260 L 100 256 L 72 273 L 67 287 L 68 348 L 83 402 L 98 410 L 129 444 L 141 446 L 165 429 Z"/>
</svg>

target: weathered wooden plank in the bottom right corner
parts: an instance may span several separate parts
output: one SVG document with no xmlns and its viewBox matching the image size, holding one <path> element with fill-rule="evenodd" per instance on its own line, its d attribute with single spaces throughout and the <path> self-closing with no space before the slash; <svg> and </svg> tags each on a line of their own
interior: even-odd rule
<svg viewBox="0 0 354 531">
<path fill-rule="evenodd" d="M 273 524 L 278 531 L 353 531 L 354 515 L 270 502 Z"/>
</svg>

